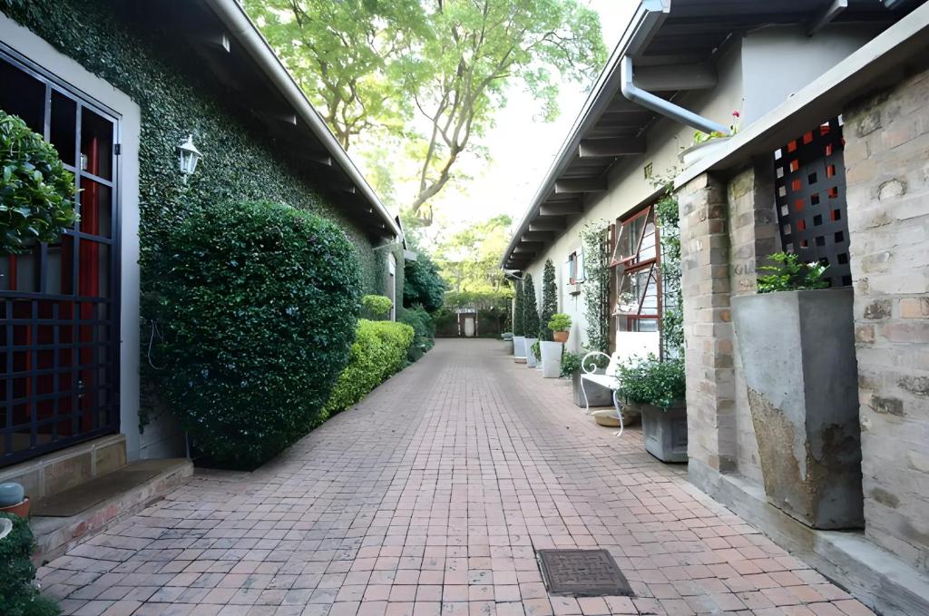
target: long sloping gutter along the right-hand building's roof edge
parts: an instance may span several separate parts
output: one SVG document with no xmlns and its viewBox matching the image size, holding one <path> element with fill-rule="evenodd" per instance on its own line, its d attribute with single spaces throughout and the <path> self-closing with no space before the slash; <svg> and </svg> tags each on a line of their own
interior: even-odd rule
<svg viewBox="0 0 929 616">
<path fill-rule="evenodd" d="M 670 0 L 666 0 L 666 2 L 670 3 Z M 584 102 L 584 106 L 578 114 L 577 120 L 575 120 L 574 125 L 571 127 L 568 138 L 561 144 L 561 149 L 555 157 L 555 162 L 552 163 L 552 166 L 549 167 L 548 172 L 545 174 L 542 186 L 539 187 L 539 190 L 536 191 L 535 196 L 532 198 L 529 211 L 523 216 L 522 220 L 519 222 L 517 231 L 513 234 L 513 237 L 510 238 L 510 242 L 506 246 L 504 256 L 500 262 L 501 269 L 505 268 L 506 261 L 517 247 L 523 233 L 529 230 L 530 221 L 539 212 L 542 203 L 554 189 L 557 177 L 561 175 L 570 164 L 573 154 L 577 151 L 584 133 L 589 130 L 591 126 L 596 124 L 597 120 L 599 120 L 600 116 L 607 109 L 610 100 L 616 96 L 616 93 L 620 90 L 622 76 L 620 63 L 622 58 L 629 53 L 630 50 L 636 52 L 647 46 L 651 37 L 658 31 L 658 28 L 661 27 L 661 23 L 664 22 L 669 11 L 670 8 L 665 7 L 662 0 L 640 0 L 638 7 L 635 8 L 632 20 L 630 20 L 629 25 L 626 26 L 625 32 L 622 33 L 619 44 L 613 50 L 613 53 L 610 54 L 607 65 L 604 67 L 603 71 L 600 72 L 600 76 L 591 89 L 590 96 L 588 96 L 586 102 Z"/>
</svg>

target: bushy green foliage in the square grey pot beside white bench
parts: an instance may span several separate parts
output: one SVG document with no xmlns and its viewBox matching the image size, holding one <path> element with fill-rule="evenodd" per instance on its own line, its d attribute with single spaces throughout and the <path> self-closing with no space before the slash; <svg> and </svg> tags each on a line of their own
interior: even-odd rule
<svg viewBox="0 0 929 616">
<path fill-rule="evenodd" d="M 630 402 L 651 404 L 667 410 L 687 395 L 684 359 L 659 360 L 654 355 L 617 366 L 618 391 Z"/>
</svg>

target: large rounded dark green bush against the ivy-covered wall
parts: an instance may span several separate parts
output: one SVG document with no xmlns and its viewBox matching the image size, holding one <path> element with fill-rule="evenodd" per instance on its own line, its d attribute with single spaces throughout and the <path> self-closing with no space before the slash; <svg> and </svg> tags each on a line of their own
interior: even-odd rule
<svg viewBox="0 0 929 616">
<path fill-rule="evenodd" d="M 345 233 L 286 205 L 210 205 L 169 233 L 151 275 L 156 379 L 198 452 L 251 468 L 307 434 L 355 338 Z"/>
</svg>

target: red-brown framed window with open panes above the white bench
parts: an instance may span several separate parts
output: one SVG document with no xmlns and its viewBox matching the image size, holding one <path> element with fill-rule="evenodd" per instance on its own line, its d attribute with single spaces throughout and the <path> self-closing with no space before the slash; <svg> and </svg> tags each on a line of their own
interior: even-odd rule
<svg viewBox="0 0 929 616">
<path fill-rule="evenodd" d="M 616 332 L 657 332 L 661 322 L 659 236 L 654 207 L 618 220 L 610 260 Z"/>
</svg>

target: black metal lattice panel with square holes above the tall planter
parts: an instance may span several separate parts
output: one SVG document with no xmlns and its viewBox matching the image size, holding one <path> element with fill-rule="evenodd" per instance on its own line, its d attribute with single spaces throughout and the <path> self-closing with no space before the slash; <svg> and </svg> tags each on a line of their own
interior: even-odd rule
<svg viewBox="0 0 929 616">
<path fill-rule="evenodd" d="M 784 251 L 829 266 L 832 287 L 849 286 L 842 125 L 836 119 L 775 152 L 775 190 Z"/>
</svg>

